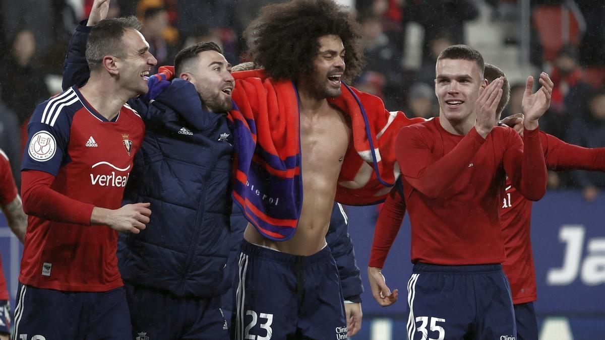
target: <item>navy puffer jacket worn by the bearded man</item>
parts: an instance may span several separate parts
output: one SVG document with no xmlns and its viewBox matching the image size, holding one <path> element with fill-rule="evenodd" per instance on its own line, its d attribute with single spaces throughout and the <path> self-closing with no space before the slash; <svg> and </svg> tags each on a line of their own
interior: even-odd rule
<svg viewBox="0 0 605 340">
<path fill-rule="evenodd" d="M 140 234 L 120 238 L 120 273 L 130 284 L 178 296 L 221 295 L 229 284 L 233 152 L 226 114 L 202 110 L 192 83 L 181 79 L 147 105 L 145 140 L 124 197 L 150 202 L 152 215 Z"/>
</svg>

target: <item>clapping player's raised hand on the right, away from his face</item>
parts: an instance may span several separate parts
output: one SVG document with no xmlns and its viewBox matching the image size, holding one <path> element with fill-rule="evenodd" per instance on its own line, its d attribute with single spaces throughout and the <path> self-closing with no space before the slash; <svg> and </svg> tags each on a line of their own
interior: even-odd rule
<svg viewBox="0 0 605 340">
<path fill-rule="evenodd" d="M 525 93 L 521 102 L 521 109 L 525 114 L 525 128 L 533 130 L 538 127 L 538 119 L 551 106 L 552 88 L 554 84 L 548 74 L 542 72 L 540 74 L 540 85 L 542 87 L 536 93 L 532 94 L 531 90 L 534 87 L 534 77 L 529 76 L 525 83 Z"/>
</svg>

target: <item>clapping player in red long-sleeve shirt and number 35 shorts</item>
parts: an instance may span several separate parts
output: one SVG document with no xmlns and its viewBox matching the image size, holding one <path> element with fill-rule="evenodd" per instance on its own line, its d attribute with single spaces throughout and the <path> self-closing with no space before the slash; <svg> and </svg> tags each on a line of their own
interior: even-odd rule
<svg viewBox="0 0 605 340">
<path fill-rule="evenodd" d="M 525 197 L 538 200 L 545 192 L 537 120 L 548 108 L 552 82 L 541 74 L 543 87 L 531 94 L 533 79 L 528 79 L 522 142 L 514 130 L 495 126 L 503 81 L 485 87 L 477 51 L 446 48 L 436 71 L 439 118 L 402 129 L 395 146 L 415 263 L 408 283 L 408 336 L 512 338 L 514 313 L 500 265 L 505 250 L 497 204 L 505 171 Z M 381 267 L 379 262 L 373 251 L 370 267 Z M 368 268 L 374 283 L 381 275 L 378 267 Z M 396 292 L 379 292 L 386 295 L 377 298 L 385 306 L 396 299 Z"/>
</svg>

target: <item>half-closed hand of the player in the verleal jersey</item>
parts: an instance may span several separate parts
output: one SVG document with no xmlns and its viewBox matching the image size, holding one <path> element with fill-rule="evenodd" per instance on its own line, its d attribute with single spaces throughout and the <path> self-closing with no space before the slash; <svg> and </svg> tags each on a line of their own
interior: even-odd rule
<svg viewBox="0 0 605 340">
<path fill-rule="evenodd" d="M 151 203 L 126 204 L 120 209 L 111 210 L 94 207 L 90 217 L 91 224 L 104 224 L 119 232 L 139 234 L 149 223 Z"/>
</svg>

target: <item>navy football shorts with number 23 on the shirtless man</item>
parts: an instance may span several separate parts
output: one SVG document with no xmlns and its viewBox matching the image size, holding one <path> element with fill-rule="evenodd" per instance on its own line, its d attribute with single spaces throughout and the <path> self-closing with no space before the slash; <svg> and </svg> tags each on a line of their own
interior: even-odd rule
<svg viewBox="0 0 605 340">
<path fill-rule="evenodd" d="M 290 255 L 246 240 L 234 285 L 234 339 L 347 339 L 344 299 L 330 248 Z"/>
</svg>

